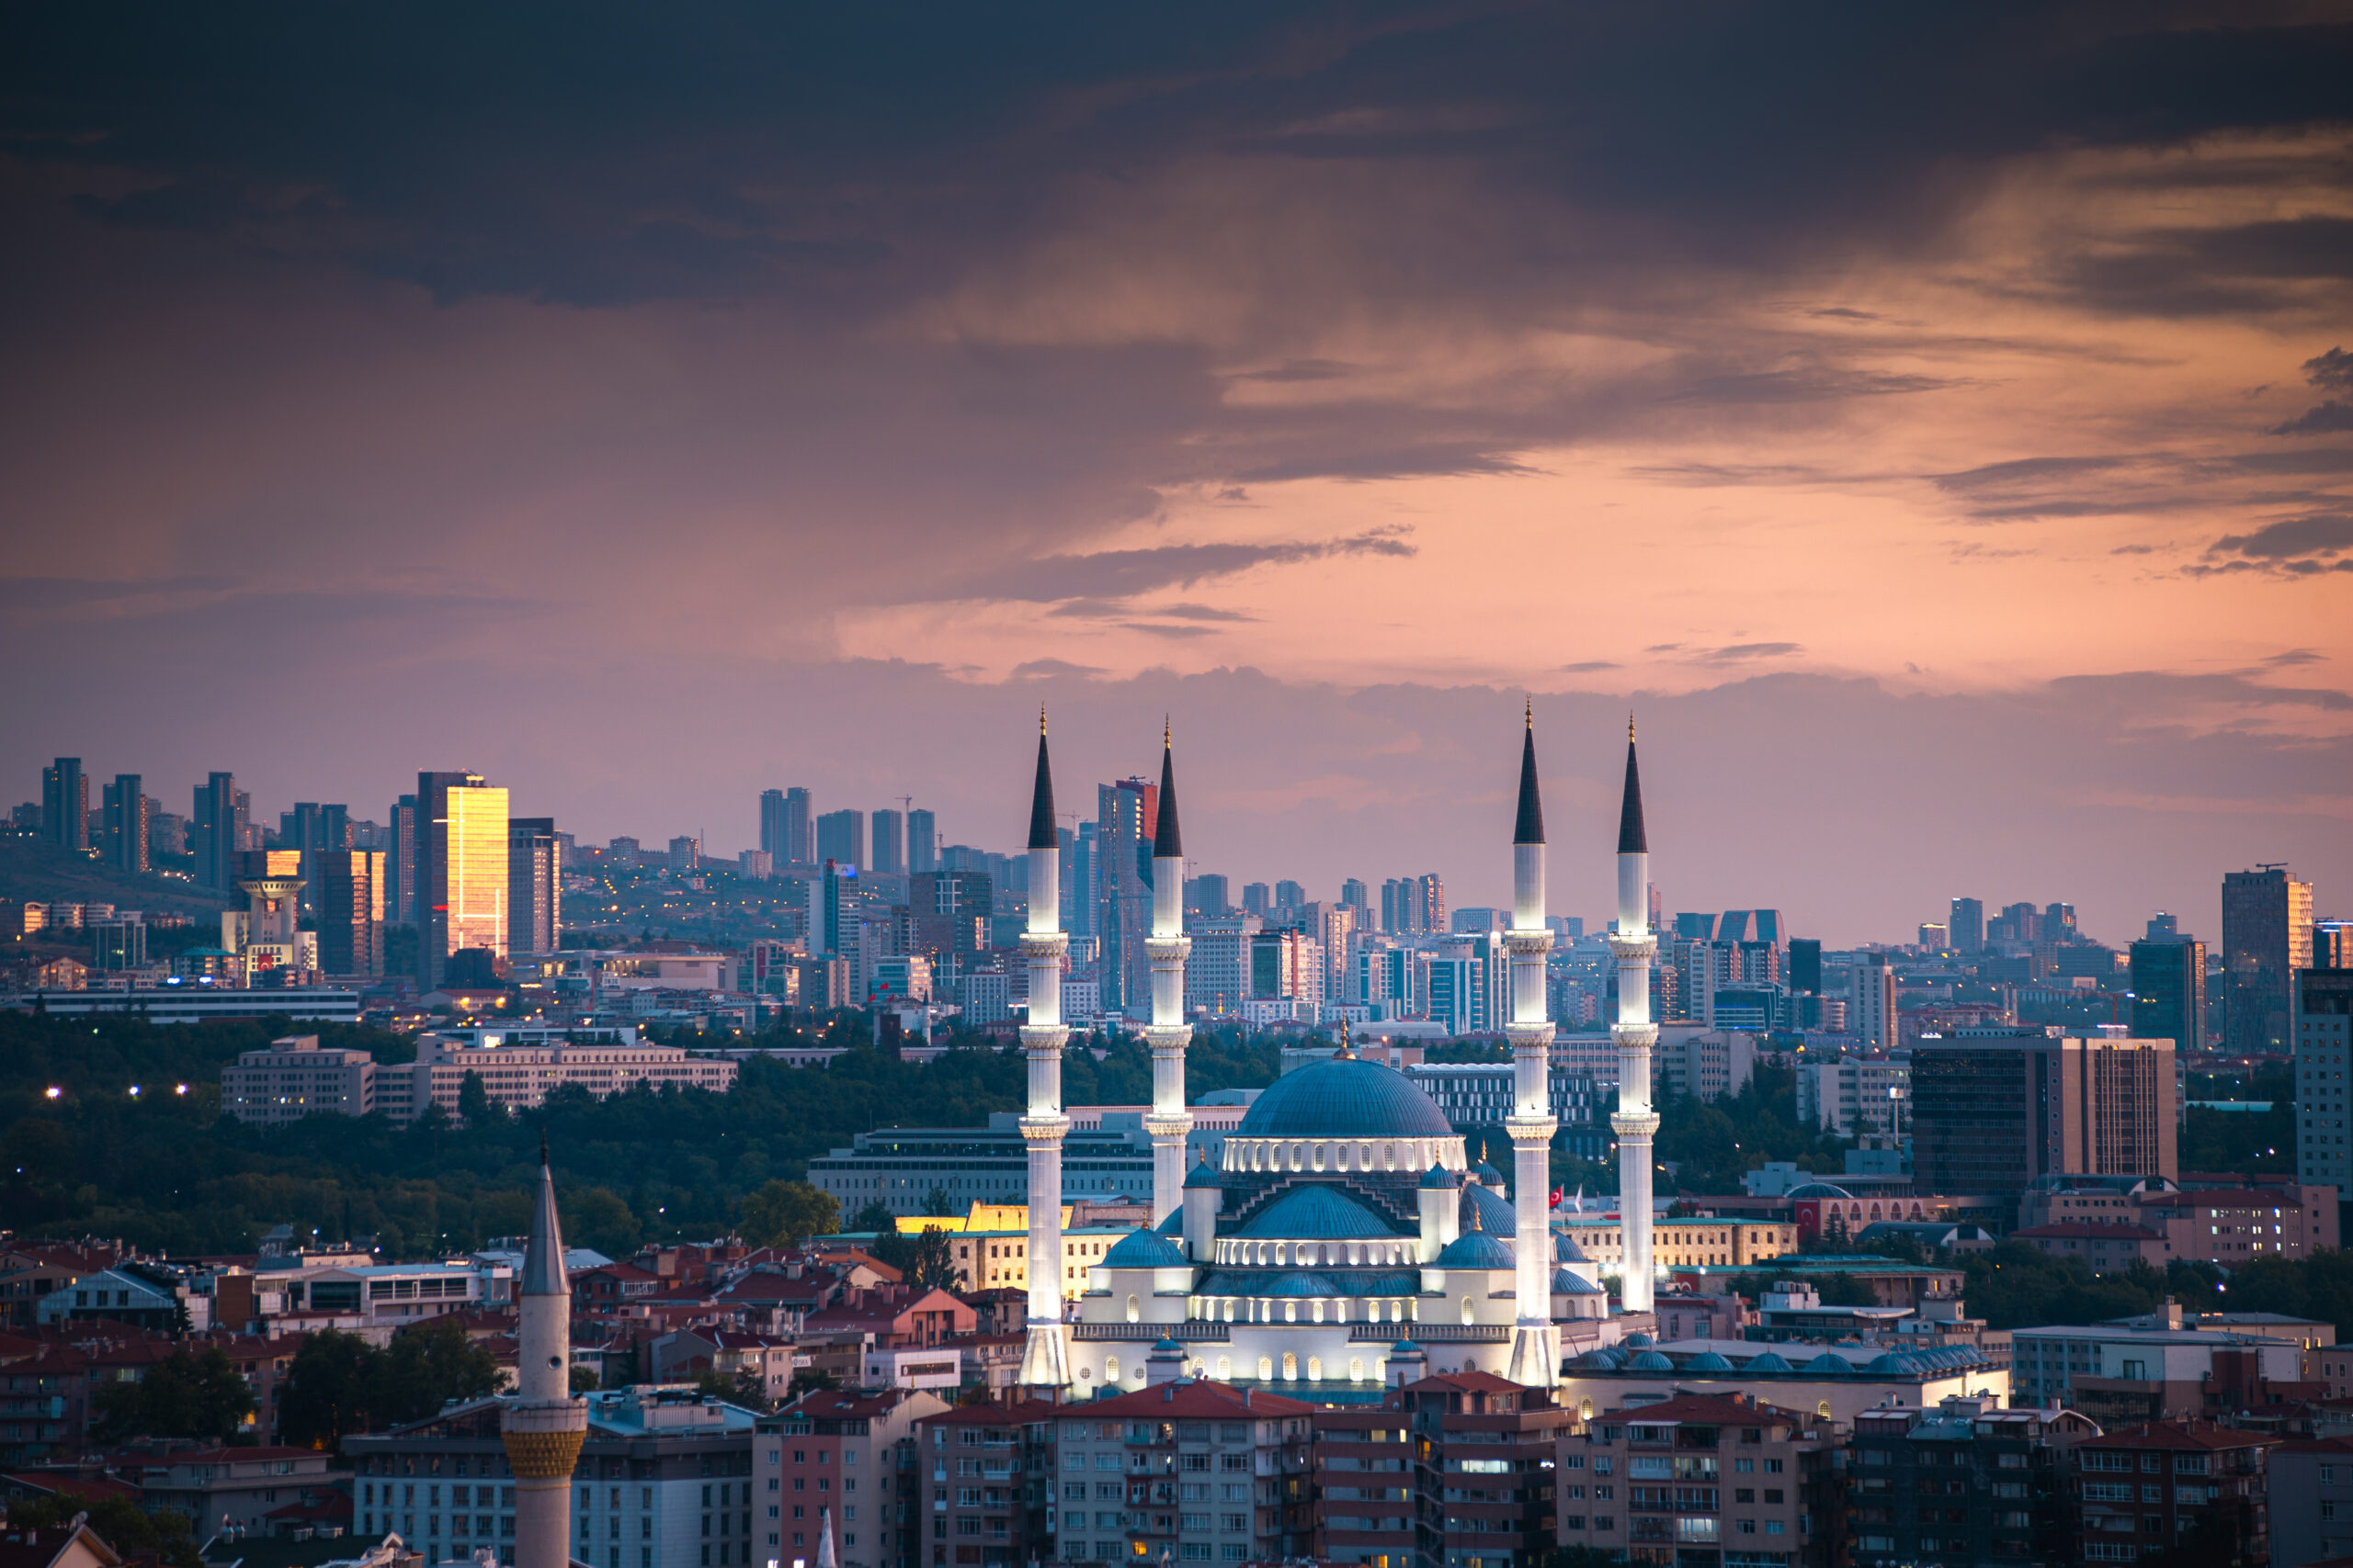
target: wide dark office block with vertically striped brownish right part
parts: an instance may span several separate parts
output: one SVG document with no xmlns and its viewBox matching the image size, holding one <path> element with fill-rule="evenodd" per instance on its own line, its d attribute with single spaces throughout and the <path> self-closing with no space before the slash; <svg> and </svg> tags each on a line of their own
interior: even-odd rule
<svg viewBox="0 0 2353 1568">
<path fill-rule="evenodd" d="M 1927 1034 L 1913 1046 L 1913 1171 L 1925 1192 L 1984 1194 L 2042 1175 L 2179 1178 L 2174 1046 L 2120 1030 Z"/>
</svg>

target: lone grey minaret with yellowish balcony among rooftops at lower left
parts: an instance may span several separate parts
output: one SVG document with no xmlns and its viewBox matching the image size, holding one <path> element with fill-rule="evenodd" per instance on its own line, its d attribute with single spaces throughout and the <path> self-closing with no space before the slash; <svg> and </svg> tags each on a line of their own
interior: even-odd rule
<svg viewBox="0 0 2353 1568">
<path fill-rule="evenodd" d="M 572 1396 L 572 1279 L 555 1222 L 548 1143 L 539 1140 L 539 1208 L 522 1253 L 515 1394 L 499 1415 L 515 1472 L 515 1568 L 572 1561 L 572 1465 L 588 1439 L 588 1401 Z"/>
</svg>

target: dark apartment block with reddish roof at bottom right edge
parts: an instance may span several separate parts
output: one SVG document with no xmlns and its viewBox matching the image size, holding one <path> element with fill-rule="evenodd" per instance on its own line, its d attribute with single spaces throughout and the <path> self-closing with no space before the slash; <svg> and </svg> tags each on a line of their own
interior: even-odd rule
<svg viewBox="0 0 2353 1568">
<path fill-rule="evenodd" d="M 2280 1439 L 2212 1422 L 2151 1422 L 2073 1448 L 2082 1563 L 2132 1563 L 2179 1547 L 2217 1568 L 2271 1561 L 2266 1472 Z"/>
</svg>

